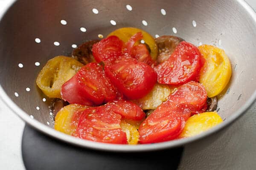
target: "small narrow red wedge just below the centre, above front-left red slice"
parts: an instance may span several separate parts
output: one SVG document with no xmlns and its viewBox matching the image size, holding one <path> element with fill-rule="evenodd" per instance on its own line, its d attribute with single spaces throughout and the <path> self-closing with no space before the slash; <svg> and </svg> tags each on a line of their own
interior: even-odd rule
<svg viewBox="0 0 256 170">
<path fill-rule="evenodd" d="M 124 119 L 142 120 L 146 116 L 138 105 L 126 100 L 114 100 L 105 106 L 114 113 L 120 114 Z"/>
</svg>

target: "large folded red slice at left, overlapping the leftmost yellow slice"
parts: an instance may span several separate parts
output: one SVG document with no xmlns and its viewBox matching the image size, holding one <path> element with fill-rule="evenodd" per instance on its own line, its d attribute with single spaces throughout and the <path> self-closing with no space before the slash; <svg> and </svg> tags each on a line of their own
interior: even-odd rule
<svg viewBox="0 0 256 170">
<path fill-rule="evenodd" d="M 85 65 L 61 87 L 62 99 L 70 104 L 101 105 L 115 99 L 116 95 L 116 88 L 95 62 Z"/>
</svg>

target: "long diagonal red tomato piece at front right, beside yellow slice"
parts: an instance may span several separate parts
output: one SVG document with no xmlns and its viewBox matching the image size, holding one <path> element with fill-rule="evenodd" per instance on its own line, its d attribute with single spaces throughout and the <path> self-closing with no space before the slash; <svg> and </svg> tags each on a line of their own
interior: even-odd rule
<svg viewBox="0 0 256 170">
<path fill-rule="evenodd" d="M 198 82 L 188 82 L 170 94 L 139 128 L 140 143 L 164 142 L 177 138 L 185 121 L 205 108 L 207 93 Z"/>
</svg>

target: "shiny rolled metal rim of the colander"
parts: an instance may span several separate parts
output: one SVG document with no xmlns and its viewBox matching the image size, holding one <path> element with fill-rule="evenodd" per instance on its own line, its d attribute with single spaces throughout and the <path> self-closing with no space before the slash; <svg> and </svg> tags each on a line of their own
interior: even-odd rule
<svg viewBox="0 0 256 170">
<path fill-rule="evenodd" d="M 5 8 L 5 11 L 3 12 L 3 14 L 0 15 L 0 20 L 2 20 L 2 18 L 4 17 L 8 9 L 16 1 L 17 0 L 14 0 L 7 8 Z M 239 2 L 240 5 L 246 9 L 246 11 L 250 14 L 254 22 L 256 23 L 256 13 L 253 10 L 253 8 L 251 8 L 247 4 L 247 2 L 245 2 L 245 0 L 236 0 L 236 1 Z M 245 102 L 245 104 L 242 105 L 241 108 L 239 108 L 239 110 L 237 110 L 235 113 L 233 113 L 233 115 L 231 115 L 223 123 L 213 127 L 212 129 L 204 133 L 201 133 L 197 136 L 178 139 L 178 140 L 172 140 L 168 142 L 161 142 L 161 143 L 155 143 L 155 144 L 139 144 L 139 145 L 106 144 L 106 143 L 93 142 L 93 141 L 84 140 L 84 139 L 78 139 L 73 136 L 66 135 L 64 133 L 58 132 L 57 130 L 54 130 L 53 128 L 47 125 L 44 125 L 41 122 L 38 122 L 36 119 L 31 119 L 30 116 L 25 111 L 19 108 L 15 104 L 15 102 L 12 101 L 12 99 L 3 90 L 1 85 L 0 85 L 0 98 L 14 113 L 17 114 L 17 116 L 23 119 L 28 125 L 34 127 L 35 129 L 55 139 L 59 139 L 63 142 L 67 142 L 70 144 L 74 144 L 74 145 L 85 147 L 85 148 L 95 149 L 95 150 L 114 151 L 114 152 L 137 152 L 137 151 L 153 151 L 153 150 L 162 150 L 162 149 L 172 148 L 172 147 L 179 147 L 184 144 L 195 142 L 199 139 L 202 139 L 206 136 L 209 136 L 213 133 L 218 132 L 219 130 L 223 129 L 227 125 L 230 125 L 232 122 L 238 119 L 241 115 L 246 113 L 246 111 L 250 108 L 250 106 L 256 100 L 256 90 L 253 92 L 250 98 Z"/>
</svg>

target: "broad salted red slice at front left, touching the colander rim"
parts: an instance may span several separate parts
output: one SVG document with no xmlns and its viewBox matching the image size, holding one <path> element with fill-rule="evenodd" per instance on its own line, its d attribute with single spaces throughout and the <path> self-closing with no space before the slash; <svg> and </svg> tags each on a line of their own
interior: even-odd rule
<svg viewBox="0 0 256 170">
<path fill-rule="evenodd" d="M 76 133 L 81 139 L 127 144 L 126 133 L 122 131 L 120 122 L 121 115 L 108 112 L 105 107 L 88 108 L 81 113 Z"/>
</svg>

